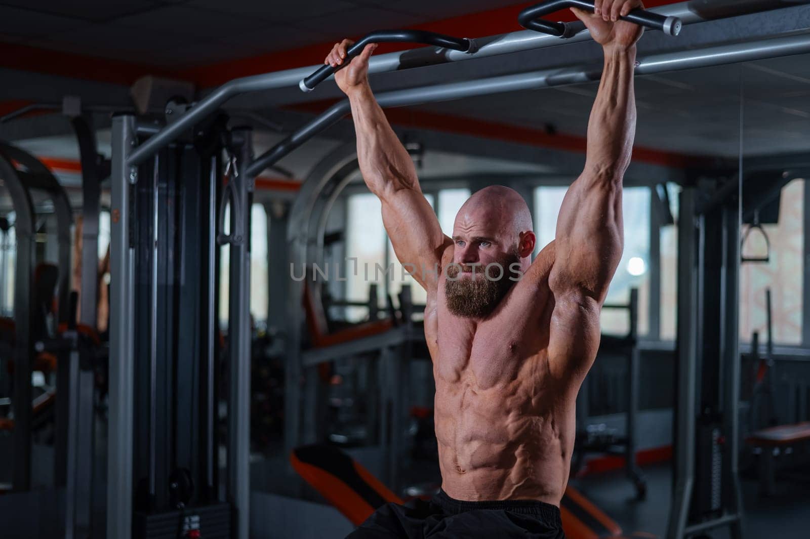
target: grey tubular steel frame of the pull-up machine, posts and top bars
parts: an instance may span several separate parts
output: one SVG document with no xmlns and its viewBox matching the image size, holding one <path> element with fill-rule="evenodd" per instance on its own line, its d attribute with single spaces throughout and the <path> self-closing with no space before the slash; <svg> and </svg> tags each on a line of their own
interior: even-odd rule
<svg viewBox="0 0 810 539">
<path fill-rule="evenodd" d="M 779 7 L 795 6 L 783 2 L 762 2 L 756 6 L 744 6 L 738 11 L 728 10 L 710 15 L 700 15 L 691 11 L 691 2 L 682 2 L 662 8 L 654 8 L 650 12 L 660 15 L 674 16 L 681 19 L 684 24 L 701 23 L 706 20 L 720 19 L 734 15 L 743 15 L 754 11 L 767 11 Z M 578 25 L 578 26 L 577 26 Z M 570 26 L 578 28 L 566 42 L 589 40 L 588 32 L 584 31 L 582 23 L 572 23 Z M 571 32 L 569 32 L 571 33 Z M 468 58 L 488 57 L 497 54 L 514 53 L 523 50 L 543 49 L 559 45 L 560 38 L 549 35 L 540 35 L 537 32 L 522 31 L 511 32 L 502 36 L 491 36 L 480 39 L 484 45 L 477 45 L 475 52 L 463 53 L 457 50 L 436 50 L 433 48 L 411 49 L 401 53 L 384 54 L 373 57 L 369 62 L 369 74 L 377 74 L 391 70 L 405 69 L 407 67 L 436 65 L 445 62 L 458 62 Z M 716 66 L 732 62 L 748 62 L 769 57 L 787 56 L 810 52 L 810 36 L 798 34 L 793 36 L 775 36 L 770 39 L 757 40 L 752 43 L 733 43 L 718 45 L 699 50 L 687 50 L 676 53 L 666 53 L 641 58 L 636 68 L 637 74 L 659 73 L 667 70 L 685 70 L 697 67 Z M 110 444 L 109 444 L 109 485 L 108 485 L 108 537 L 128 539 L 131 532 L 132 510 L 132 422 L 133 422 L 133 394 L 132 371 L 133 357 L 131 354 L 132 328 L 131 328 L 131 302 L 133 299 L 132 287 L 132 249 L 128 247 L 128 233 L 131 219 L 130 215 L 130 184 L 137 180 L 136 167 L 154 155 L 168 143 L 198 124 L 205 117 L 211 115 L 234 95 L 251 91 L 266 91 L 280 87 L 294 87 L 301 79 L 320 66 L 284 70 L 275 73 L 255 75 L 241 79 L 234 79 L 217 88 L 194 107 L 185 112 L 177 121 L 168 125 L 147 142 L 137 146 L 134 142 L 138 126 L 133 116 L 119 116 L 113 119 L 113 234 L 112 256 L 113 268 L 112 301 L 116 308 L 111 310 L 111 355 L 117 358 L 110 371 Z M 384 107 L 407 106 L 422 104 L 437 100 L 460 99 L 473 95 L 485 95 L 501 91 L 517 91 L 537 89 L 541 87 L 555 87 L 566 84 L 586 83 L 598 80 L 601 75 L 601 66 L 573 66 L 562 70 L 541 70 L 528 74 L 506 75 L 462 83 L 439 84 L 433 87 L 417 87 L 403 91 L 392 91 L 378 95 L 377 100 Z M 239 163 L 240 180 L 237 186 L 237 196 L 246 201 L 249 191 L 252 190 L 254 177 L 265 168 L 276 163 L 283 155 L 300 146 L 315 134 L 334 124 L 348 112 L 347 101 L 336 104 L 320 117 L 309 122 L 302 129 L 297 130 L 289 138 L 266 152 L 258 159 L 250 159 L 249 150 L 245 158 Z M 153 128 L 150 126 L 150 130 Z M 241 216 L 248 219 L 249 212 Z M 247 223 L 237 223 L 237 226 L 246 230 Z M 247 321 L 248 297 L 247 283 L 249 282 L 249 266 L 244 259 L 246 248 L 243 245 L 236 249 L 237 257 L 232 265 L 231 277 L 242 279 L 241 285 L 232 290 L 232 317 L 237 316 Z M 232 255 L 233 256 L 233 255 Z M 235 267 L 234 267 L 235 266 Z M 236 270 L 236 271 L 234 271 Z M 292 299 L 291 299 L 292 301 Z M 236 470 L 241 473 L 241 482 L 232 489 L 232 501 L 237 508 L 239 518 L 237 522 L 237 537 L 246 539 L 248 529 L 248 503 L 249 503 L 249 475 L 248 475 L 248 448 L 249 435 L 249 373 L 243 364 L 249 362 L 249 328 L 245 324 L 238 336 L 232 336 L 231 361 L 237 367 L 237 376 L 232 377 L 232 410 L 236 412 L 231 418 L 232 427 L 241 429 L 232 431 L 231 439 L 235 440 L 236 454 L 232 456 Z M 234 338 L 236 337 L 236 338 Z M 114 367 L 114 369 L 112 368 Z M 244 371 L 244 372 L 243 372 Z M 233 391 L 241 388 L 242 391 Z M 241 397 L 241 398 L 237 398 Z M 229 452 L 230 455 L 230 452 Z"/>
</svg>

